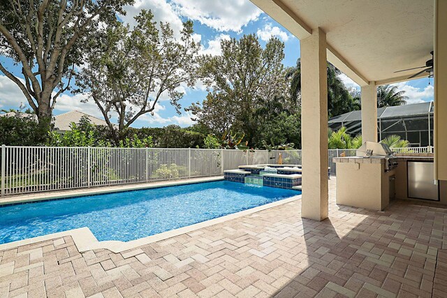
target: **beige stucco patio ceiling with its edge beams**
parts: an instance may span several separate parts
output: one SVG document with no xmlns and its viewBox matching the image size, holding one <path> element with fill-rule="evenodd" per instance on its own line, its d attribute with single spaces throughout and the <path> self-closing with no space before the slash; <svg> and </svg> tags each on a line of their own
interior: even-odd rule
<svg viewBox="0 0 447 298">
<path fill-rule="evenodd" d="M 418 70 L 394 72 L 432 58 L 432 0 L 251 1 L 299 39 L 323 29 L 328 61 L 361 86 L 407 80 Z"/>
</svg>

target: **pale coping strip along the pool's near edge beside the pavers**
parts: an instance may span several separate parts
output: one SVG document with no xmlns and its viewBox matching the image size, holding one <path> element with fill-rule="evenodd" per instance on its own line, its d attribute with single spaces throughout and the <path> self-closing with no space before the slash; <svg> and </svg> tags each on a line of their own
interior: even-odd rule
<svg viewBox="0 0 447 298">
<path fill-rule="evenodd" d="M 179 184 L 175 184 L 179 185 Z M 179 236 L 181 234 L 187 234 L 189 232 L 193 232 L 195 230 L 199 230 L 201 228 L 207 228 L 211 225 L 217 225 L 219 223 L 224 223 L 226 221 L 231 221 L 235 218 L 240 218 L 242 216 L 247 216 L 250 214 L 255 214 L 259 211 L 263 211 L 265 209 L 270 209 L 272 207 L 277 207 L 282 204 L 287 204 L 289 202 L 293 202 L 295 200 L 300 200 L 300 195 L 294 195 L 291 198 L 287 198 L 284 200 L 279 200 L 277 202 L 271 202 L 268 204 L 264 204 L 262 206 L 254 207 L 251 209 L 242 210 L 233 214 L 228 214 L 226 216 L 221 216 L 218 218 L 213 218 L 208 221 L 203 221 L 200 223 L 194 223 L 192 225 L 187 225 L 186 227 L 178 228 L 175 230 L 170 230 L 167 232 L 161 232 L 159 234 L 154 234 L 151 236 L 143 237 L 140 239 L 135 239 L 131 241 L 117 241 L 117 240 L 108 240 L 108 241 L 98 241 L 94 234 L 91 232 L 91 230 L 87 227 L 83 228 L 77 228 L 73 230 L 66 230 L 63 232 L 57 232 L 53 234 L 46 234 L 43 236 L 33 237 L 33 238 L 27 238 L 23 240 L 13 241 L 6 244 L 0 244 L 0 251 L 6 251 L 9 249 L 17 248 L 19 246 L 29 245 L 29 244 L 36 244 L 38 242 L 48 241 L 51 239 L 57 239 L 60 237 L 65 236 L 71 236 L 73 239 L 73 242 L 75 243 L 75 246 L 78 248 L 78 251 L 80 253 L 83 253 L 85 251 L 91 251 L 94 249 L 107 249 L 111 251 L 112 253 L 121 253 L 123 251 L 128 251 L 133 248 L 138 248 L 140 246 L 144 246 L 147 244 L 154 243 L 156 241 L 162 241 L 166 240 L 175 236 Z"/>
</svg>

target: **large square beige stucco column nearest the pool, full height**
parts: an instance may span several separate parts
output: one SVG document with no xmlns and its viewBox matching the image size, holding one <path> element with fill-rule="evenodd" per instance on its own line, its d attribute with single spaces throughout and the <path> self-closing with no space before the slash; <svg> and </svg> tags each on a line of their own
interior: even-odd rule
<svg viewBox="0 0 447 298">
<path fill-rule="evenodd" d="M 319 28 L 301 45 L 301 215 L 328 217 L 328 77 L 326 34 Z"/>
</svg>

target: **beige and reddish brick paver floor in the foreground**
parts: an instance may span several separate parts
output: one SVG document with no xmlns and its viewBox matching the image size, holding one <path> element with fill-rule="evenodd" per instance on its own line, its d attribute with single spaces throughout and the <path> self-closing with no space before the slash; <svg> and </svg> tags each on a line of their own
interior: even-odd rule
<svg viewBox="0 0 447 298">
<path fill-rule="evenodd" d="M 322 222 L 295 201 L 124 253 L 71 237 L 0 251 L 0 297 L 447 297 L 447 209 L 334 194 L 332 178 Z"/>
</svg>

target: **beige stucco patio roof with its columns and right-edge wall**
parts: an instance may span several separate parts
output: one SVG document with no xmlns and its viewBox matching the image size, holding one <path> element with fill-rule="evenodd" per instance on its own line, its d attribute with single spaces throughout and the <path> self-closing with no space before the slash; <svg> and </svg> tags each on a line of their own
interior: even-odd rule
<svg viewBox="0 0 447 298">
<path fill-rule="evenodd" d="M 447 113 L 447 2 L 251 1 L 300 39 L 302 167 L 306 169 L 302 216 L 317 221 L 328 217 L 327 61 L 361 87 L 363 142 L 377 142 L 377 86 L 434 75 L 433 183 L 440 185 L 442 202 L 447 196 L 447 155 L 443 154 L 447 146 L 447 117 L 443 117 Z M 431 70 L 418 68 L 430 66 L 432 58 Z"/>
</svg>

